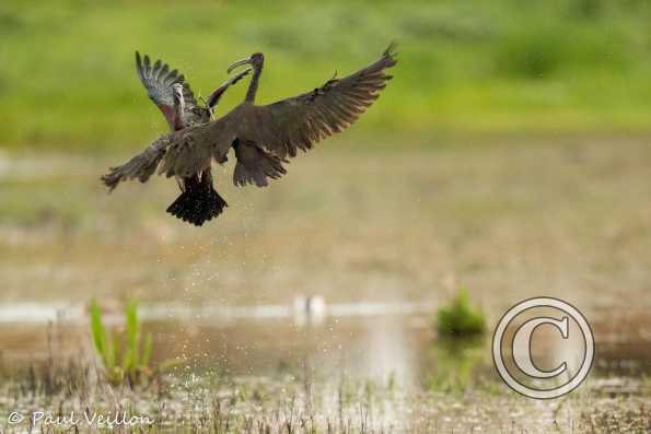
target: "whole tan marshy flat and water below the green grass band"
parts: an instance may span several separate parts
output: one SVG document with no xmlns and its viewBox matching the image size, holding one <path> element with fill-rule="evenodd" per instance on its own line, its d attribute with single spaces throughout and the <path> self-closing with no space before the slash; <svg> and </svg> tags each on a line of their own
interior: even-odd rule
<svg viewBox="0 0 651 434">
<path fill-rule="evenodd" d="M 171 426 L 188 406 L 216 400 L 243 424 L 279 412 L 282 421 L 299 396 L 303 417 L 321 418 L 318 432 L 328 432 L 328 418 L 339 423 L 334 432 L 399 431 L 390 429 L 396 421 L 409 432 L 649 432 L 647 138 L 481 139 L 379 153 L 344 144 L 319 148 L 268 189 L 220 184 L 232 207 L 199 232 L 164 213 L 177 196 L 172 183 L 106 195 L 97 175 L 117 157 L 0 160 L 0 431 L 13 432 L 3 418 L 19 407 L 79 411 L 90 396 L 113 408 L 117 394 Z M 588 380 L 567 400 L 513 392 L 492 366 L 490 332 L 472 342 L 437 336 L 437 307 L 460 288 L 483 307 L 489 331 L 532 296 L 577 306 L 596 340 Z M 325 310 L 303 314 L 294 303 L 302 293 L 323 296 Z M 166 394 L 70 382 L 75 371 L 63 370 L 44 395 L 50 377 L 36 370 L 33 378 L 30 367 L 50 354 L 84 357 L 94 372 L 89 301 L 120 328 L 113 313 L 131 297 L 141 301 L 155 361 L 183 357 Z M 554 367 L 558 333 L 539 340 L 535 361 Z M 341 399 L 344 382 L 361 384 L 352 399 Z M 70 394 L 59 387 L 69 383 Z M 383 385 L 398 399 L 377 406 L 369 396 Z M 242 395 L 255 406 L 241 407 Z M 348 402 L 357 430 L 340 430 L 342 412 L 319 408 L 319 397 Z M 363 430 L 363 406 L 386 423 Z"/>
</svg>

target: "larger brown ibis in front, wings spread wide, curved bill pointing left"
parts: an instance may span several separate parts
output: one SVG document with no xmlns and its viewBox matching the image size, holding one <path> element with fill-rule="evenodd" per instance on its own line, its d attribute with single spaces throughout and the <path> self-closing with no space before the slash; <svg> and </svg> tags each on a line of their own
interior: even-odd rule
<svg viewBox="0 0 651 434">
<path fill-rule="evenodd" d="M 314 91 L 269 105 L 254 104 L 265 58 L 260 52 L 253 54 L 229 67 L 229 72 L 244 64 L 253 68 L 243 103 L 217 120 L 159 138 L 141 154 L 112 168 L 102 179 L 113 189 L 126 179 L 138 178 L 144 183 L 156 168 L 167 177 L 201 176 L 210 171 L 212 161 L 224 162 L 233 148 L 237 159 L 233 183 L 267 186 L 268 178 L 286 174 L 282 163 L 295 156 L 299 149 L 307 151 L 314 143 L 348 128 L 373 104 L 392 79 L 385 70 L 396 64 L 393 48 L 392 44 L 377 61 L 358 72 L 328 80 Z M 204 212 L 201 207 L 194 209 L 190 213 L 198 216 L 190 223 L 204 223 L 208 211 L 206 215 L 201 214 Z"/>
</svg>

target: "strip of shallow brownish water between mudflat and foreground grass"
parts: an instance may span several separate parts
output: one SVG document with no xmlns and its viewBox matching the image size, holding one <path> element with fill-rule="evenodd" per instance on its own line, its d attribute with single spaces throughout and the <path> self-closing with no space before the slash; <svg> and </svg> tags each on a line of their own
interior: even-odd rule
<svg viewBox="0 0 651 434">
<path fill-rule="evenodd" d="M 140 316 L 153 335 L 154 360 L 182 359 L 179 373 L 290 375 L 333 385 L 345 377 L 434 389 L 499 380 L 491 333 L 474 340 L 440 338 L 427 304 L 324 305 L 307 314 L 304 303 L 299 298 L 294 305 L 236 308 L 146 305 Z M 80 345 L 92 353 L 83 307 L 4 305 L 0 314 L 4 364 L 44 360 L 51 352 L 78 354 Z M 595 313 L 590 319 L 596 340 L 592 378 L 651 374 L 651 320 L 646 312 L 618 318 Z M 124 318 L 108 312 L 105 321 L 120 328 Z M 539 333 L 538 350 L 532 349 L 536 363 L 556 366 L 557 344 L 555 333 Z"/>
</svg>

